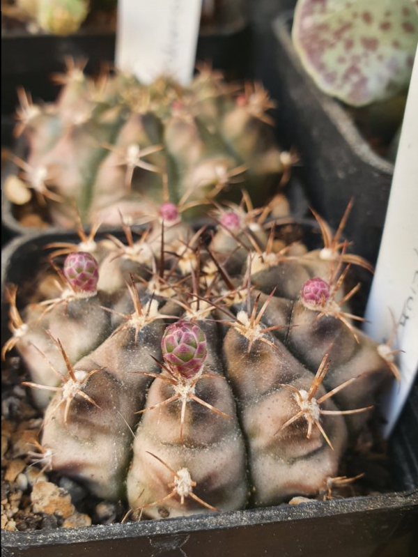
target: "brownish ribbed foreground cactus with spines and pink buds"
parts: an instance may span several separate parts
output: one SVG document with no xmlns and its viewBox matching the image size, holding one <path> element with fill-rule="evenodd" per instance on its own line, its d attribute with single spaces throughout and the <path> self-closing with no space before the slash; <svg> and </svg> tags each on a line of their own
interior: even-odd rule
<svg viewBox="0 0 418 557">
<path fill-rule="evenodd" d="M 396 375 L 350 312 L 350 266 L 368 265 L 319 217 L 314 251 L 244 203 L 214 218 L 124 225 L 125 241 L 80 229 L 48 246 L 30 293 L 8 286 L 3 358 L 18 355 L 43 416 L 20 454 L 43 478 L 154 519 L 330 498 L 359 479 L 347 455 Z"/>
</svg>

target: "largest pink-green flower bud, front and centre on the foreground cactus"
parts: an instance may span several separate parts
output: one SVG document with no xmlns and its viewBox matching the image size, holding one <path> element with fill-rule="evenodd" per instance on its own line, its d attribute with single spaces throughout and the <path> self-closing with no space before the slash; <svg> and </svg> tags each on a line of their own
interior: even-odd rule
<svg viewBox="0 0 418 557">
<path fill-rule="evenodd" d="M 206 358 L 206 336 L 203 330 L 189 321 L 169 325 L 161 339 L 162 356 L 167 364 L 181 375 L 192 379 Z"/>
</svg>

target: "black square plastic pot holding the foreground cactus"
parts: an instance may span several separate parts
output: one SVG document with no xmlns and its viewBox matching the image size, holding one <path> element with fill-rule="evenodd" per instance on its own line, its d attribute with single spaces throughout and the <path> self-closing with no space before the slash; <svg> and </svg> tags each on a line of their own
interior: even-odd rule
<svg viewBox="0 0 418 557">
<path fill-rule="evenodd" d="M 318 234 L 317 234 L 318 236 Z M 74 241 L 74 234 L 54 236 Z M 3 252 L 2 285 L 21 284 L 45 258 L 50 234 L 17 238 Z M 2 286 L 3 291 L 3 286 Z M 2 336 L 7 307 L 2 304 Z M 403 557 L 418 519 L 418 387 L 389 440 L 392 486 L 373 494 L 300 505 L 76 529 L 2 533 L 2 557 Z M 416 546 L 415 546 L 416 547 Z"/>
</svg>

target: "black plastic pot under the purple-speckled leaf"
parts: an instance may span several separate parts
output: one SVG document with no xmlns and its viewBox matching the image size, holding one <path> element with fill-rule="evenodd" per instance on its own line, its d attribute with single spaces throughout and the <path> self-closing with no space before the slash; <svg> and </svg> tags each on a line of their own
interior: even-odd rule
<svg viewBox="0 0 418 557">
<path fill-rule="evenodd" d="M 322 93 L 305 72 L 291 38 L 293 12 L 274 21 L 274 96 L 281 128 L 300 152 L 307 194 L 336 228 L 351 198 L 346 234 L 355 250 L 376 262 L 394 165 L 374 153 L 341 103 Z"/>
</svg>

